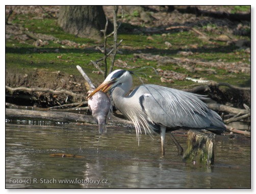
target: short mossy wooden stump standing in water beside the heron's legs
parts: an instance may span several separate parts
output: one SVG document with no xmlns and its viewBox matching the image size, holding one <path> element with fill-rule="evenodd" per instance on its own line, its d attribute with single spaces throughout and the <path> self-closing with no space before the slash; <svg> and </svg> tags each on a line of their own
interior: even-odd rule
<svg viewBox="0 0 256 194">
<path fill-rule="evenodd" d="M 213 137 L 195 130 L 188 132 L 187 150 L 183 159 L 189 163 L 212 165 L 214 163 Z"/>
</svg>

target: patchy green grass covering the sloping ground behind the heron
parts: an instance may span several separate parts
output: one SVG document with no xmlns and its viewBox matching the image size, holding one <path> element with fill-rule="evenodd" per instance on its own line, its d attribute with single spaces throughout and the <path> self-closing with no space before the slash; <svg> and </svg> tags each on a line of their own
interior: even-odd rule
<svg viewBox="0 0 256 194">
<path fill-rule="evenodd" d="M 242 11 L 248 7 L 234 7 L 238 11 Z M 36 19 L 33 15 L 19 15 L 12 20 L 12 23 L 20 24 L 24 28 L 34 33 L 41 33 L 45 35 L 52 35 L 59 40 L 70 40 L 80 45 L 85 44 L 85 48 L 68 47 L 61 45 L 56 41 L 48 41 L 49 44 L 43 47 L 33 46 L 33 40 L 19 42 L 14 37 L 11 37 L 6 41 L 6 69 L 19 70 L 22 72 L 33 71 L 33 69 L 48 69 L 49 71 L 62 71 L 68 74 L 79 75 L 75 66 L 80 65 L 83 69 L 89 73 L 92 80 L 102 81 L 103 78 L 99 78 L 96 74 L 90 74 L 90 72 L 96 69 L 90 64 L 90 60 L 96 60 L 103 57 L 99 51 L 95 51 L 90 47 L 103 45 L 90 39 L 84 39 L 75 37 L 65 33 L 58 25 L 55 19 L 44 18 Z M 123 26 L 129 27 L 130 25 L 124 24 Z M 213 24 L 214 28 L 217 28 Z M 130 26 L 131 27 L 131 26 Z M 134 26 L 133 26 L 134 27 Z M 137 26 L 138 28 L 140 26 Z M 198 30 L 205 30 L 206 27 L 198 27 Z M 124 33 L 124 30 L 118 34 L 118 39 L 123 39 L 122 45 L 130 46 L 133 49 L 121 49 L 122 53 L 117 54 L 116 59 L 125 61 L 129 66 L 136 66 L 138 68 L 152 66 L 154 68 L 161 68 L 163 70 L 173 70 L 178 73 L 185 73 L 190 75 L 186 69 L 181 67 L 175 67 L 175 64 L 169 64 L 169 66 L 158 67 L 157 61 L 149 61 L 141 58 L 135 58 L 134 53 L 151 53 L 153 55 L 171 56 L 171 57 L 184 57 L 178 54 L 178 51 L 192 51 L 194 54 L 186 56 L 185 58 L 196 58 L 205 61 L 218 61 L 221 59 L 225 62 L 246 62 L 250 58 L 250 54 L 245 50 L 241 50 L 234 45 L 226 45 L 225 42 L 216 42 L 216 45 L 209 44 L 202 39 L 198 38 L 198 35 L 192 31 L 174 31 L 163 36 L 162 34 L 131 34 Z M 210 37 L 217 36 L 212 32 L 204 31 Z M 148 38 L 148 37 L 151 38 Z M 250 39 L 248 37 L 234 36 L 236 39 Z M 168 48 L 165 42 L 170 42 L 171 47 Z M 108 41 L 109 47 L 112 45 L 112 39 Z M 196 48 L 193 45 L 197 45 Z M 121 47 L 120 47 L 121 48 Z M 247 61 L 249 63 L 249 61 Z M 137 68 L 137 69 L 138 69 Z M 117 69 L 117 68 L 115 68 Z M 118 68 L 119 69 L 119 68 Z M 225 70 L 215 69 L 218 75 L 225 76 L 230 75 Z M 152 70 L 145 69 L 144 72 L 147 75 L 152 75 L 152 78 L 147 78 L 148 83 L 155 83 L 170 86 L 170 84 L 161 83 L 160 77 L 154 75 Z M 205 73 L 195 73 L 195 77 L 204 77 L 208 80 L 220 81 L 220 77 L 216 75 L 206 75 Z M 222 80 L 221 80 L 222 81 Z M 223 81 L 238 85 L 248 86 L 250 84 L 250 75 L 244 73 L 229 76 Z M 139 80 L 135 79 L 135 84 L 138 85 Z M 174 87 L 180 87 L 184 85 L 192 84 L 191 81 L 175 81 L 172 84 Z"/>
</svg>

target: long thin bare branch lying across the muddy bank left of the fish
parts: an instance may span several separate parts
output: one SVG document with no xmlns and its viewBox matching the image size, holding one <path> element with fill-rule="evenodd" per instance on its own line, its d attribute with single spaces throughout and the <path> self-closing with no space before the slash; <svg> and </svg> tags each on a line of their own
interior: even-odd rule
<svg viewBox="0 0 256 194">
<path fill-rule="evenodd" d="M 17 91 L 17 90 L 23 90 L 23 91 L 42 91 L 42 92 L 50 92 L 50 93 L 53 93 L 53 94 L 60 94 L 60 93 L 65 93 L 67 95 L 71 95 L 75 98 L 81 98 L 83 95 L 81 94 L 77 94 L 77 93 L 73 93 L 71 91 L 67 91 L 67 90 L 59 90 L 59 91 L 56 91 L 56 90 L 53 90 L 53 89 L 49 89 L 49 88 L 27 88 L 27 87 L 16 87 L 16 88 L 11 88 L 9 86 L 5 86 L 5 88 L 11 92 L 13 91 Z"/>
</svg>

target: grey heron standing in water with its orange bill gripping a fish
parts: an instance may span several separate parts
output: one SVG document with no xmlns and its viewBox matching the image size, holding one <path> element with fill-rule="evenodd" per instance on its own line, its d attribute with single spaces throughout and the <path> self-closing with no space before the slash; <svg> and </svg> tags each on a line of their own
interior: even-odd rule
<svg viewBox="0 0 256 194">
<path fill-rule="evenodd" d="M 202 102 L 207 99 L 202 95 L 153 84 L 140 85 L 127 95 L 133 84 L 131 74 L 115 70 L 88 98 L 99 90 L 110 91 L 113 105 L 133 122 L 138 139 L 141 128 L 145 134 L 160 133 L 162 155 L 165 155 L 166 128 L 206 129 L 219 135 L 226 130 L 221 117 Z M 182 151 L 172 134 L 171 138 Z"/>
</svg>

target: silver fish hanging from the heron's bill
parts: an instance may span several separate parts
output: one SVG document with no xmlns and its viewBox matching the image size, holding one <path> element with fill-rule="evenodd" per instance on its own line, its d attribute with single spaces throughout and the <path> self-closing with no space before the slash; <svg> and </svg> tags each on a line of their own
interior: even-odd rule
<svg viewBox="0 0 256 194">
<path fill-rule="evenodd" d="M 93 90 L 90 90 L 90 94 Z M 91 98 L 88 99 L 88 107 L 98 123 L 99 134 L 107 133 L 106 118 L 110 117 L 112 111 L 111 101 L 109 96 L 103 91 L 96 92 Z"/>
</svg>

